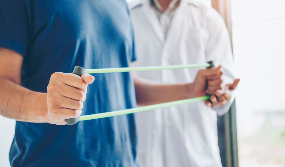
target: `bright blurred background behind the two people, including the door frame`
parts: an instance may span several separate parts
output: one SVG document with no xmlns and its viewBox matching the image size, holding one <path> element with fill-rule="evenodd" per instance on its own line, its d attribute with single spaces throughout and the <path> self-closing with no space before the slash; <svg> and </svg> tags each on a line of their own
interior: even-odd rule
<svg viewBox="0 0 285 167">
<path fill-rule="evenodd" d="M 223 166 L 285 166 L 285 1 L 198 1 L 225 19 L 241 78 L 235 105 L 219 118 Z M 3 167 L 10 166 L 14 128 L 14 120 L 0 116 Z"/>
</svg>

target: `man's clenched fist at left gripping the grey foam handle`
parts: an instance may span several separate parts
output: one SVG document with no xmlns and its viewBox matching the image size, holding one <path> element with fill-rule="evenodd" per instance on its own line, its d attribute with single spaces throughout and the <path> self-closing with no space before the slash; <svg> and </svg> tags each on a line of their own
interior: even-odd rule
<svg viewBox="0 0 285 167">
<path fill-rule="evenodd" d="M 66 119 L 80 116 L 87 86 L 93 81 L 89 74 L 53 73 L 47 86 L 48 123 L 65 125 Z"/>
</svg>

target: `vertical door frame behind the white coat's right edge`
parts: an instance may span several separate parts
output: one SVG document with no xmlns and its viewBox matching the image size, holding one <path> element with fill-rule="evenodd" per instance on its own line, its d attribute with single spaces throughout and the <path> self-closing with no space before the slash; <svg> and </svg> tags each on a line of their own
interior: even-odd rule
<svg viewBox="0 0 285 167">
<path fill-rule="evenodd" d="M 232 44 L 231 0 L 211 0 L 212 7 L 223 17 L 229 31 Z M 218 117 L 218 144 L 223 167 L 238 167 L 238 142 L 236 129 L 235 101 L 230 110 Z"/>
</svg>

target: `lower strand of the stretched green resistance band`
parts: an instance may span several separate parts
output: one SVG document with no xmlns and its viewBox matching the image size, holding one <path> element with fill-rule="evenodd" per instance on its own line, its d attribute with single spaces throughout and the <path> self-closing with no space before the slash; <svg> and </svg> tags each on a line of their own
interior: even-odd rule
<svg viewBox="0 0 285 167">
<path fill-rule="evenodd" d="M 126 109 L 126 110 L 118 110 L 118 111 L 111 111 L 111 112 L 106 112 L 106 113 L 83 115 L 80 117 L 79 121 L 94 120 L 94 119 L 99 119 L 99 118 L 106 118 L 106 117 L 110 117 L 110 116 L 118 116 L 118 115 L 131 114 L 131 113 L 139 113 L 139 112 L 155 110 L 155 109 L 159 109 L 159 108 L 195 103 L 198 101 L 205 101 L 205 100 L 208 100 L 209 98 L 210 98 L 210 96 L 195 97 L 195 98 L 191 98 L 191 99 L 172 101 L 172 102 L 168 102 L 168 103 L 154 104 L 154 105 L 150 105 L 150 106 L 142 106 L 142 107 L 131 108 L 131 109 Z"/>
</svg>

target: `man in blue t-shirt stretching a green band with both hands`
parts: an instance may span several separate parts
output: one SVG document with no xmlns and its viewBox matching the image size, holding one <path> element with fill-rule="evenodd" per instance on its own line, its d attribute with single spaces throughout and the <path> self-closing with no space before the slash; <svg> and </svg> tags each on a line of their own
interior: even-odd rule
<svg viewBox="0 0 285 167">
<path fill-rule="evenodd" d="M 11 166 L 136 166 L 133 114 L 66 119 L 133 108 L 136 97 L 148 105 L 203 96 L 206 77 L 221 76 L 204 69 L 194 83 L 162 85 L 130 73 L 70 73 L 135 60 L 125 0 L 0 0 L 0 114 L 17 120 Z"/>
</svg>

